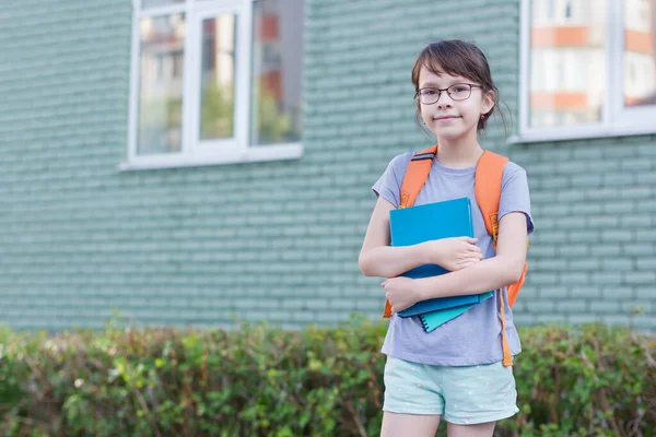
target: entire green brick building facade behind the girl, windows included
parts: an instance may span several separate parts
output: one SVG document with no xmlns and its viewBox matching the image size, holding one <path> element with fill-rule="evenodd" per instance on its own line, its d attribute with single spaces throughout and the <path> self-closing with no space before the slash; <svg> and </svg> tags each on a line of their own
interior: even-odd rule
<svg viewBox="0 0 656 437">
<path fill-rule="evenodd" d="M 656 0 L 9 0 L 0 322 L 378 318 L 358 255 L 391 157 L 431 145 L 412 62 L 477 43 L 529 178 L 518 324 L 656 331 Z"/>
</svg>

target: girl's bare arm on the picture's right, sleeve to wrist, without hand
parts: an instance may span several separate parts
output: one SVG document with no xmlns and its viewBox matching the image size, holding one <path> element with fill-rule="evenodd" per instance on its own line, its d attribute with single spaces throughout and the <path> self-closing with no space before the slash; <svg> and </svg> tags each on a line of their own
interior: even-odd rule
<svg viewBox="0 0 656 437">
<path fill-rule="evenodd" d="M 499 223 L 496 256 L 470 267 L 413 281 L 418 300 L 485 293 L 514 284 L 526 262 L 526 215 L 513 212 Z"/>
</svg>

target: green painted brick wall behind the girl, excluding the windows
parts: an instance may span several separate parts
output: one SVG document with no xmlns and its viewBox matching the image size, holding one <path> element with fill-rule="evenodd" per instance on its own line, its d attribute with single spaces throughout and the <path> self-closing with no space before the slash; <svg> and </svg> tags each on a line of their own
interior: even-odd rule
<svg viewBox="0 0 656 437">
<path fill-rule="evenodd" d="M 477 42 L 516 120 L 515 1 L 308 0 L 302 160 L 119 172 L 130 24 L 129 0 L 0 7 L 0 322 L 14 329 L 99 328 L 113 308 L 141 324 L 377 318 L 358 255 L 372 184 L 431 143 L 412 122 L 419 50 Z M 530 180 L 516 319 L 628 323 L 640 306 L 633 326 L 656 331 L 656 138 L 508 146 L 493 128 L 483 145 Z"/>
</svg>

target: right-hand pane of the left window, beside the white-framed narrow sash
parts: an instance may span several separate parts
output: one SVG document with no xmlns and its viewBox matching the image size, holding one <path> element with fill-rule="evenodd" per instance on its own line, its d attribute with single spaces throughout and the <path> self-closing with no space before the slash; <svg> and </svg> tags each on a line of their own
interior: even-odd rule
<svg viewBox="0 0 656 437">
<path fill-rule="evenodd" d="M 250 143 L 301 140 L 303 0 L 257 0 L 253 11 Z"/>
</svg>

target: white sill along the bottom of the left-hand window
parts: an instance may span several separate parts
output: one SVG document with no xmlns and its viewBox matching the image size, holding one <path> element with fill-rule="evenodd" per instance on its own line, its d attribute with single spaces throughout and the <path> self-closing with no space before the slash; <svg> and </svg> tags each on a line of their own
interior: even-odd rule
<svg viewBox="0 0 656 437">
<path fill-rule="evenodd" d="M 197 167 L 203 165 L 255 163 L 262 161 L 298 160 L 303 156 L 303 144 L 278 144 L 253 146 L 235 153 L 234 151 L 202 154 L 147 155 L 131 162 L 121 163 L 118 169 L 144 170 L 156 168 Z"/>
</svg>

